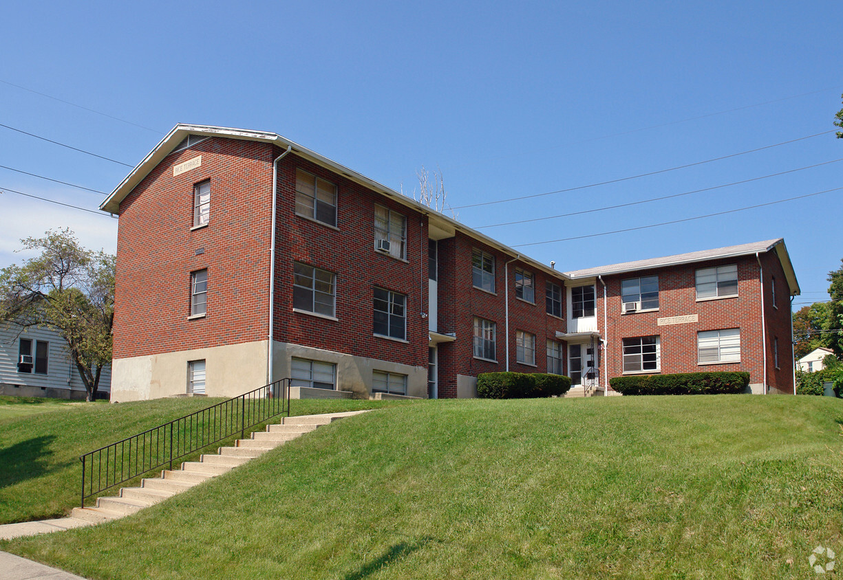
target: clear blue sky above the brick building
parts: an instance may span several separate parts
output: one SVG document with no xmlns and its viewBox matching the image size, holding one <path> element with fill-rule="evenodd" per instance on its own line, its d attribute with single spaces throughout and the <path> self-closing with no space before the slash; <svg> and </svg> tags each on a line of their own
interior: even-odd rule
<svg viewBox="0 0 843 580">
<path fill-rule="evenodd" d="M 0 124 L 130 165 L 179 122 L 271 130 L 407 193 L 439 167 L 452 206 L 792 141 L 834 129 L 843 106 L 840 2 L 11 2 L 4 17 Z M 755 179 L 481 229 L 513 246 L 591 236 L 835 189 L 838 159 L 828 133 L 456 212 L 482 227 Z M 104 192 L 129 170 L 4 127 L 0 165 Z M 0 168 L 0 266 L 59 226 L 115 250 L 112 218 L 8 189 L 91 209 L 104 197 Z M 521 249 L 569 270 L 784 237 L 796 303 L 824 300 L 841 200 Z"/>
</svg>

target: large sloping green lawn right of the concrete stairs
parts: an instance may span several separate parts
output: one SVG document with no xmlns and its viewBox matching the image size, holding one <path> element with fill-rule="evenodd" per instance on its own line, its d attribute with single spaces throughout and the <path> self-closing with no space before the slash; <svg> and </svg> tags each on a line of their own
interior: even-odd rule
<svg viewBox="0 0 843 580">
<path fill-rule="evenodd" d="M 841 424 L 819 396 L 422 402 L 0 549 L 91 578 L 816 577 Z"/>
</svg>

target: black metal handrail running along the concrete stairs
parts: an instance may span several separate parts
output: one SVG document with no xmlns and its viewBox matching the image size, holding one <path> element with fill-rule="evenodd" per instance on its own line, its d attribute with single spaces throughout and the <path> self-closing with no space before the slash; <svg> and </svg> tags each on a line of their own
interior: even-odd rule
<svg viewBox="0 0 843 580">
<path fill-rule="evenodd" d="M 82 507 L 87 498 L 109 487 L 163 466 L 173 469 L 173 461 L 238 432 L 244 439 L 246 429 L 284 412 L 290 416 L 289 379 L 277 380 L 81 455 Z"/>
</svg>

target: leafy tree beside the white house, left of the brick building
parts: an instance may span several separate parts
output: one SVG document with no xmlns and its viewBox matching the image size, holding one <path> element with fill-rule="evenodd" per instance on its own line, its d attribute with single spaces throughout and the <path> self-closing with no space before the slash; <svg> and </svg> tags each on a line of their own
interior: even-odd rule
<svg viewBox="0 0 843 580">
<path fill-rule="evenodd" d="M 60 333 L 85 400 L 94 401 L 102 367 L 111 362 L 115 257 L 86 250 L 69 229 L 20 242 L 40 254 L 0 270 L 0 320 Z"/>
</svg>

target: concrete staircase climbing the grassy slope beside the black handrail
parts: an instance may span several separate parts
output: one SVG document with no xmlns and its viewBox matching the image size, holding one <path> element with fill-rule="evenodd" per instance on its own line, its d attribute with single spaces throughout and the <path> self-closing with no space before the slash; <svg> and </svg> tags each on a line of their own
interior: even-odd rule
<svg viewBox="0 0 843 580">
<path fill-rule="evenodd" d="M 198 461 L 185 461 L 180 470 L 164 470 L 160 477 L 143 479 L 141 487 L 123 487 L 115 498 L 98 498 L 93 508 L 73 508 L 71 518 L 99 524 L 122 518 L 143 508 L 199 485 L 250 459 L 292 441 L 303 434 L 343 417 L 365 411 L 334 412 L 324 415 L 287 417 L 277 425 L 267 425 L 266 431 L 251 434 L 250 439 L 238 439 L 234 447 L 220 447 L 216 455 L 201 455 Z"/>
</svg>

